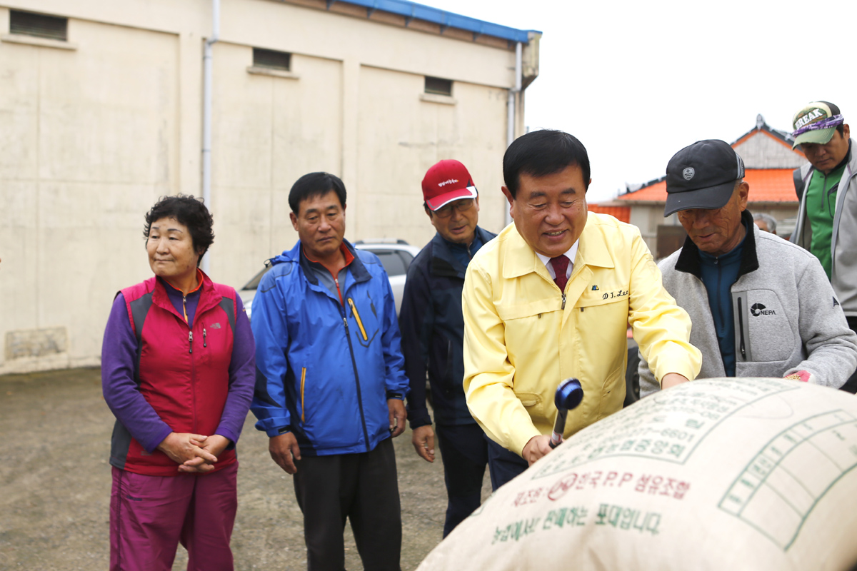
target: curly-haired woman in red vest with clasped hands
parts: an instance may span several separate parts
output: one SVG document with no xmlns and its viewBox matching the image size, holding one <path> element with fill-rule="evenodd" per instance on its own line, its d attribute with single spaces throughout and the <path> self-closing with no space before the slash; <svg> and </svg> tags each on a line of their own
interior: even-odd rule
<svg viewBox="0 0 857 571">
<path fill-rule="evenodd" d="M 235 443 L 253 396 L 255 346 L 234 288 L 199 269 L 214 235 L 192 196 L 146 215 L 154 273 L 118 292 L 101 353 L 116 416 L 110 463 L 111 570 L 232 569 Z"/>
</svg>

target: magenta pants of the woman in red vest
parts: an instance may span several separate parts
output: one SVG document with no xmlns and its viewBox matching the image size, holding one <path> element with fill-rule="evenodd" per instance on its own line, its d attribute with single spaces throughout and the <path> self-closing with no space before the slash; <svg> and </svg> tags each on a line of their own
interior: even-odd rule
<svg viewBox="0 0 857 571">
<path fill-rule="evenodd" d="M 238 462 L 218 472 L 143 476 L 113 468 L 111 571 L 170 571 L 178 543 L 188 569 L 230 570 Z"/>
</svg>

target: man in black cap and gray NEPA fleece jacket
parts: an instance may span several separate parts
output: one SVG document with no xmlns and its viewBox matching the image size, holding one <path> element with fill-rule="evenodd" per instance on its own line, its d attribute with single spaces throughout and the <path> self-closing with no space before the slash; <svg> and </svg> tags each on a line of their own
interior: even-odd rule
<svg viewBox="0 0 857 571">
<path fill-rule="evenodd" d="M 698 378 L 786 377 L 838 388 L 857 366 L 857 336 L 818 259 L 761 232 L 746 210 L 744 162 L 701 140 L 667 165 L 664 217 L 678 213 L 684 246 L 659 267 L 691 316 Z M 640 394 L 658 389 L 640 361 Z"/>
</svg>

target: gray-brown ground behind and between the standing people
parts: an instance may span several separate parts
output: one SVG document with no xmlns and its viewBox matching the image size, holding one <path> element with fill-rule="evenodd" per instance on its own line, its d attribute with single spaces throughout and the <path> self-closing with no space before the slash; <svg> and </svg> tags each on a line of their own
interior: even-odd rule
<svg viewBox="0 0 857 571">
<path fill-rule="evenodd" d="M 98 369 L 0 376 L 0 569 L 90 571 L 110 558 L 113 415 Z M 248 415 L 238 443 L 236 568 L 306 568 L 303 519 L 291 476 L 267 453 Z M 443 532 L 446 491 L 440 459 L 429 464 L 394 440 L 402 502 L 402 568 L 417 568 Z M 485 476 L 483 497 L 490 483 Z M 363 568 L 346 526 L 345 566 Z M 183 569 L 182 547 L 173 569 Z"/>
</svg>

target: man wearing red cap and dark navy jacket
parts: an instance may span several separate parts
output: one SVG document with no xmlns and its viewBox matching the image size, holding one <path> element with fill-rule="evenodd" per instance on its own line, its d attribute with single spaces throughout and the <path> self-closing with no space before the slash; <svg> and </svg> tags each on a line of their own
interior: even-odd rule
<svg viewBox="0 0 857 571">
<path fill-rule="evenodd" d="M 479 228 L 479 195 L 464 164 L 443 160 L 423 178 L 423 208 L 437 233 L 411 262 L 399 312 L 405 373 L 411 380 L 408 418 L 417 454 L 434 461 L 426 407 L 426 372 L 446 480 L 443 537 L 479 507 L 488 443 L 464 400 L 464 318 L 461 289 L 473 254 L 494 234 Z"/>
</svg>

